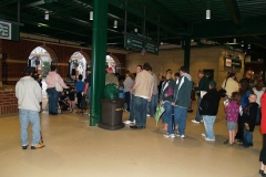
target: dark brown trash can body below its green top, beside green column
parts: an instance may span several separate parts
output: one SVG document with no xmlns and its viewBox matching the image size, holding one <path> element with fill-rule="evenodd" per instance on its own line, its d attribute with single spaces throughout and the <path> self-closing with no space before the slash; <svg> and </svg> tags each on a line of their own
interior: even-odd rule
<svg viewBox="0 0 266 177">
<path fill-rule="evenodd" d="M 102 122 L 99 127 L 115 131 L 124 127 L 122 123 L 124 98 L 106 100 L 101 98 Z"/>
</svg>

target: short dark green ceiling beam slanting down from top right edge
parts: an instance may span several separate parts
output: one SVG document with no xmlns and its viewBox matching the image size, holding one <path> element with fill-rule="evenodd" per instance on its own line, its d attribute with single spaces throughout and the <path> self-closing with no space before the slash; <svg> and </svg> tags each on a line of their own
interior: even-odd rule
<svg viewBox="0 0 266 177">
<path fill-rule="evenodd" d="M 236 0 L 224 0 L 226 8 L 229 11 L 231 18 L 236 27 L 241 25 L 241 12 Z"/>
</svg>

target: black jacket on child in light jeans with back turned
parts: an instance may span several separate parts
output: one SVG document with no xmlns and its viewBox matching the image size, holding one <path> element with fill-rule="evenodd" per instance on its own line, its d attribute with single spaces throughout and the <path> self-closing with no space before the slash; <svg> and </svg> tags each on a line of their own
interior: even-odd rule
<svg viewBox="0 0 266 177">
<path fill-rule="evenodd" d="M 216 88 L 208 90 L 200 104 L 200 114 L 216 115 L 218 112 L 219 100 L 221 96 Z"/>
</svg>

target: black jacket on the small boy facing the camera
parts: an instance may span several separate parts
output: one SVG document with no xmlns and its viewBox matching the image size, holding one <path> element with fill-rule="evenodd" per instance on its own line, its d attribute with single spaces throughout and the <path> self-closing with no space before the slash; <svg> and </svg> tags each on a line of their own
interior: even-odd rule
<svg viewBox="0 0 266 177">
<path fill-rule="evenodd" d="M 247 123 L 249 126 L 249 132 L 254 132 L 255 125 L 256 125 L 256 116 L 257 116 L 257 111 L 258 111 L 258 104 L 255 103 L 248 103 L 244 108 L 243 108 L 243 123 Z M 244 126 L 244 125 L 242 125 Z"/>
</svg>

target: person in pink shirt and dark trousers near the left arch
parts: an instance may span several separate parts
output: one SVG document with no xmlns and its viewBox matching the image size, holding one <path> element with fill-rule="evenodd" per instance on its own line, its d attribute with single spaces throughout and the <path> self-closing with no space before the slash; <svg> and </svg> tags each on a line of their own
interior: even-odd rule
<svg viewBox="0 0 266 177">
<path fill-rule="evenodd" d="M 50 115 L 58 115 L 58 102 L 60 92 L 55 90 L 55 83 L 58 82 L 62 87 L 69 88 L 65 85 L 62 77 L 57 73 L 57 66 L 51 65 L 51 71 L 47 75 L 47 93 L 49 96 L 48 104 L 49 104 L 49 114 Z"/>
</svg>

